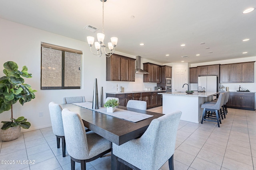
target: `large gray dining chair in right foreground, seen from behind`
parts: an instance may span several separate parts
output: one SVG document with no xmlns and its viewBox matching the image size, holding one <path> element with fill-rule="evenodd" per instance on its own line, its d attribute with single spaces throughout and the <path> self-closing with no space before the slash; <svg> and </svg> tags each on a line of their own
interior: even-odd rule
<svg viewBox="0 0 256 170">
<path fill-rule="evenodd" d="M 112 143 L 113 168 L 120 169 L 119 161 L 132 169 L 158 170 L 168 160 L 169 168 L 173 170 L 173 154 L 181 114 L 181 111 L 176 111 L 152 120 L 138 139 L 120 146 Z"/>
</svg>

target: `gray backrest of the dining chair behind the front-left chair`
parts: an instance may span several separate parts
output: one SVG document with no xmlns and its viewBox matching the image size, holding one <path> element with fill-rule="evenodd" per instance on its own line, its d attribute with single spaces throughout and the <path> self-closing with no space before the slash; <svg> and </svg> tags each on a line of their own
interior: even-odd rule
<svg viewBox="0 0 256 170">
<path fill-rule="evenodd" d="M 54 135 L 64 136 L 64 129 L 62 123 L 62 107 L 54 102 L 49 103 L 49 111 L 52 122 L 52 131 Z"/>
</svg>

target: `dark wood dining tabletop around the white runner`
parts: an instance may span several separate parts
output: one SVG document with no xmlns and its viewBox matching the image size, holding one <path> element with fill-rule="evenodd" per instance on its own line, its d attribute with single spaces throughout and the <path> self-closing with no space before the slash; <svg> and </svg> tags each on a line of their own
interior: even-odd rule
<svg viewBox="0 0 256 170">
<path fill-rule="evenodd" d="M 120 109 L 153 115 L 153 117 L 134 123 L 73 104 L 60 104 L 60 106 L 62 109 L 67 108 L 70 109 L 70 111 L 78 113 L 85 127 L 116 145 L 122 145 L 127 141 L 140 137 L 153 119 L 163 115 L 161 113 L 118 106 Z"/>
</svg>

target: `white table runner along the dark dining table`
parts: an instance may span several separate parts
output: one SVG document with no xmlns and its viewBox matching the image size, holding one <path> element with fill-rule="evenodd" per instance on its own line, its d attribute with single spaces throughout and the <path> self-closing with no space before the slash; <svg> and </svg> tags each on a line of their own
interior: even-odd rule
<svg viewBox="0 0 256 170">
<path fill-rule="evenodd" d="M 132 122 L 138 122 L 144 119 L 148 119 L 149 117 L 153 117 L 153 115 L 147 115 L 143 113 L 137 113 L 134 111 L 128 111 L 128 110 L 118 109 L 118 108 L 116 108 L 116 110 L 113 113 L 107 113 L 106 107 L 100 107 L 100 109 L 92 109 L 92 103 L 90 102 L 81 102 L 81 103 L 72 103 L 72 104 L 76 106 L 84 107 L 86 109 L 95 110 L 100 113 L 104 113 L 106 115 L 110 115 L 120 119 L 132 121 Z"/>
</svg>

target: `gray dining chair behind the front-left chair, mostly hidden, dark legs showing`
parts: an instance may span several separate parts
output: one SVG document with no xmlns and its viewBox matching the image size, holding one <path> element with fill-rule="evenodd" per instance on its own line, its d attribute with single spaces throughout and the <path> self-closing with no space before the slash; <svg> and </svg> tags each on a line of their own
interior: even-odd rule
<svg viewBox="0 0 256 170">
<path fill-rule="evenodd" d="M 66 143 L 62 123 L 62 107 L 54 102 L 49 103 L 49 111 L 52 122 L 52 131 L 57 138 L 57 148 L 60 148 L 60 139 L 62 141 L 62 157 L 66 156 Z"/>
</svg>

